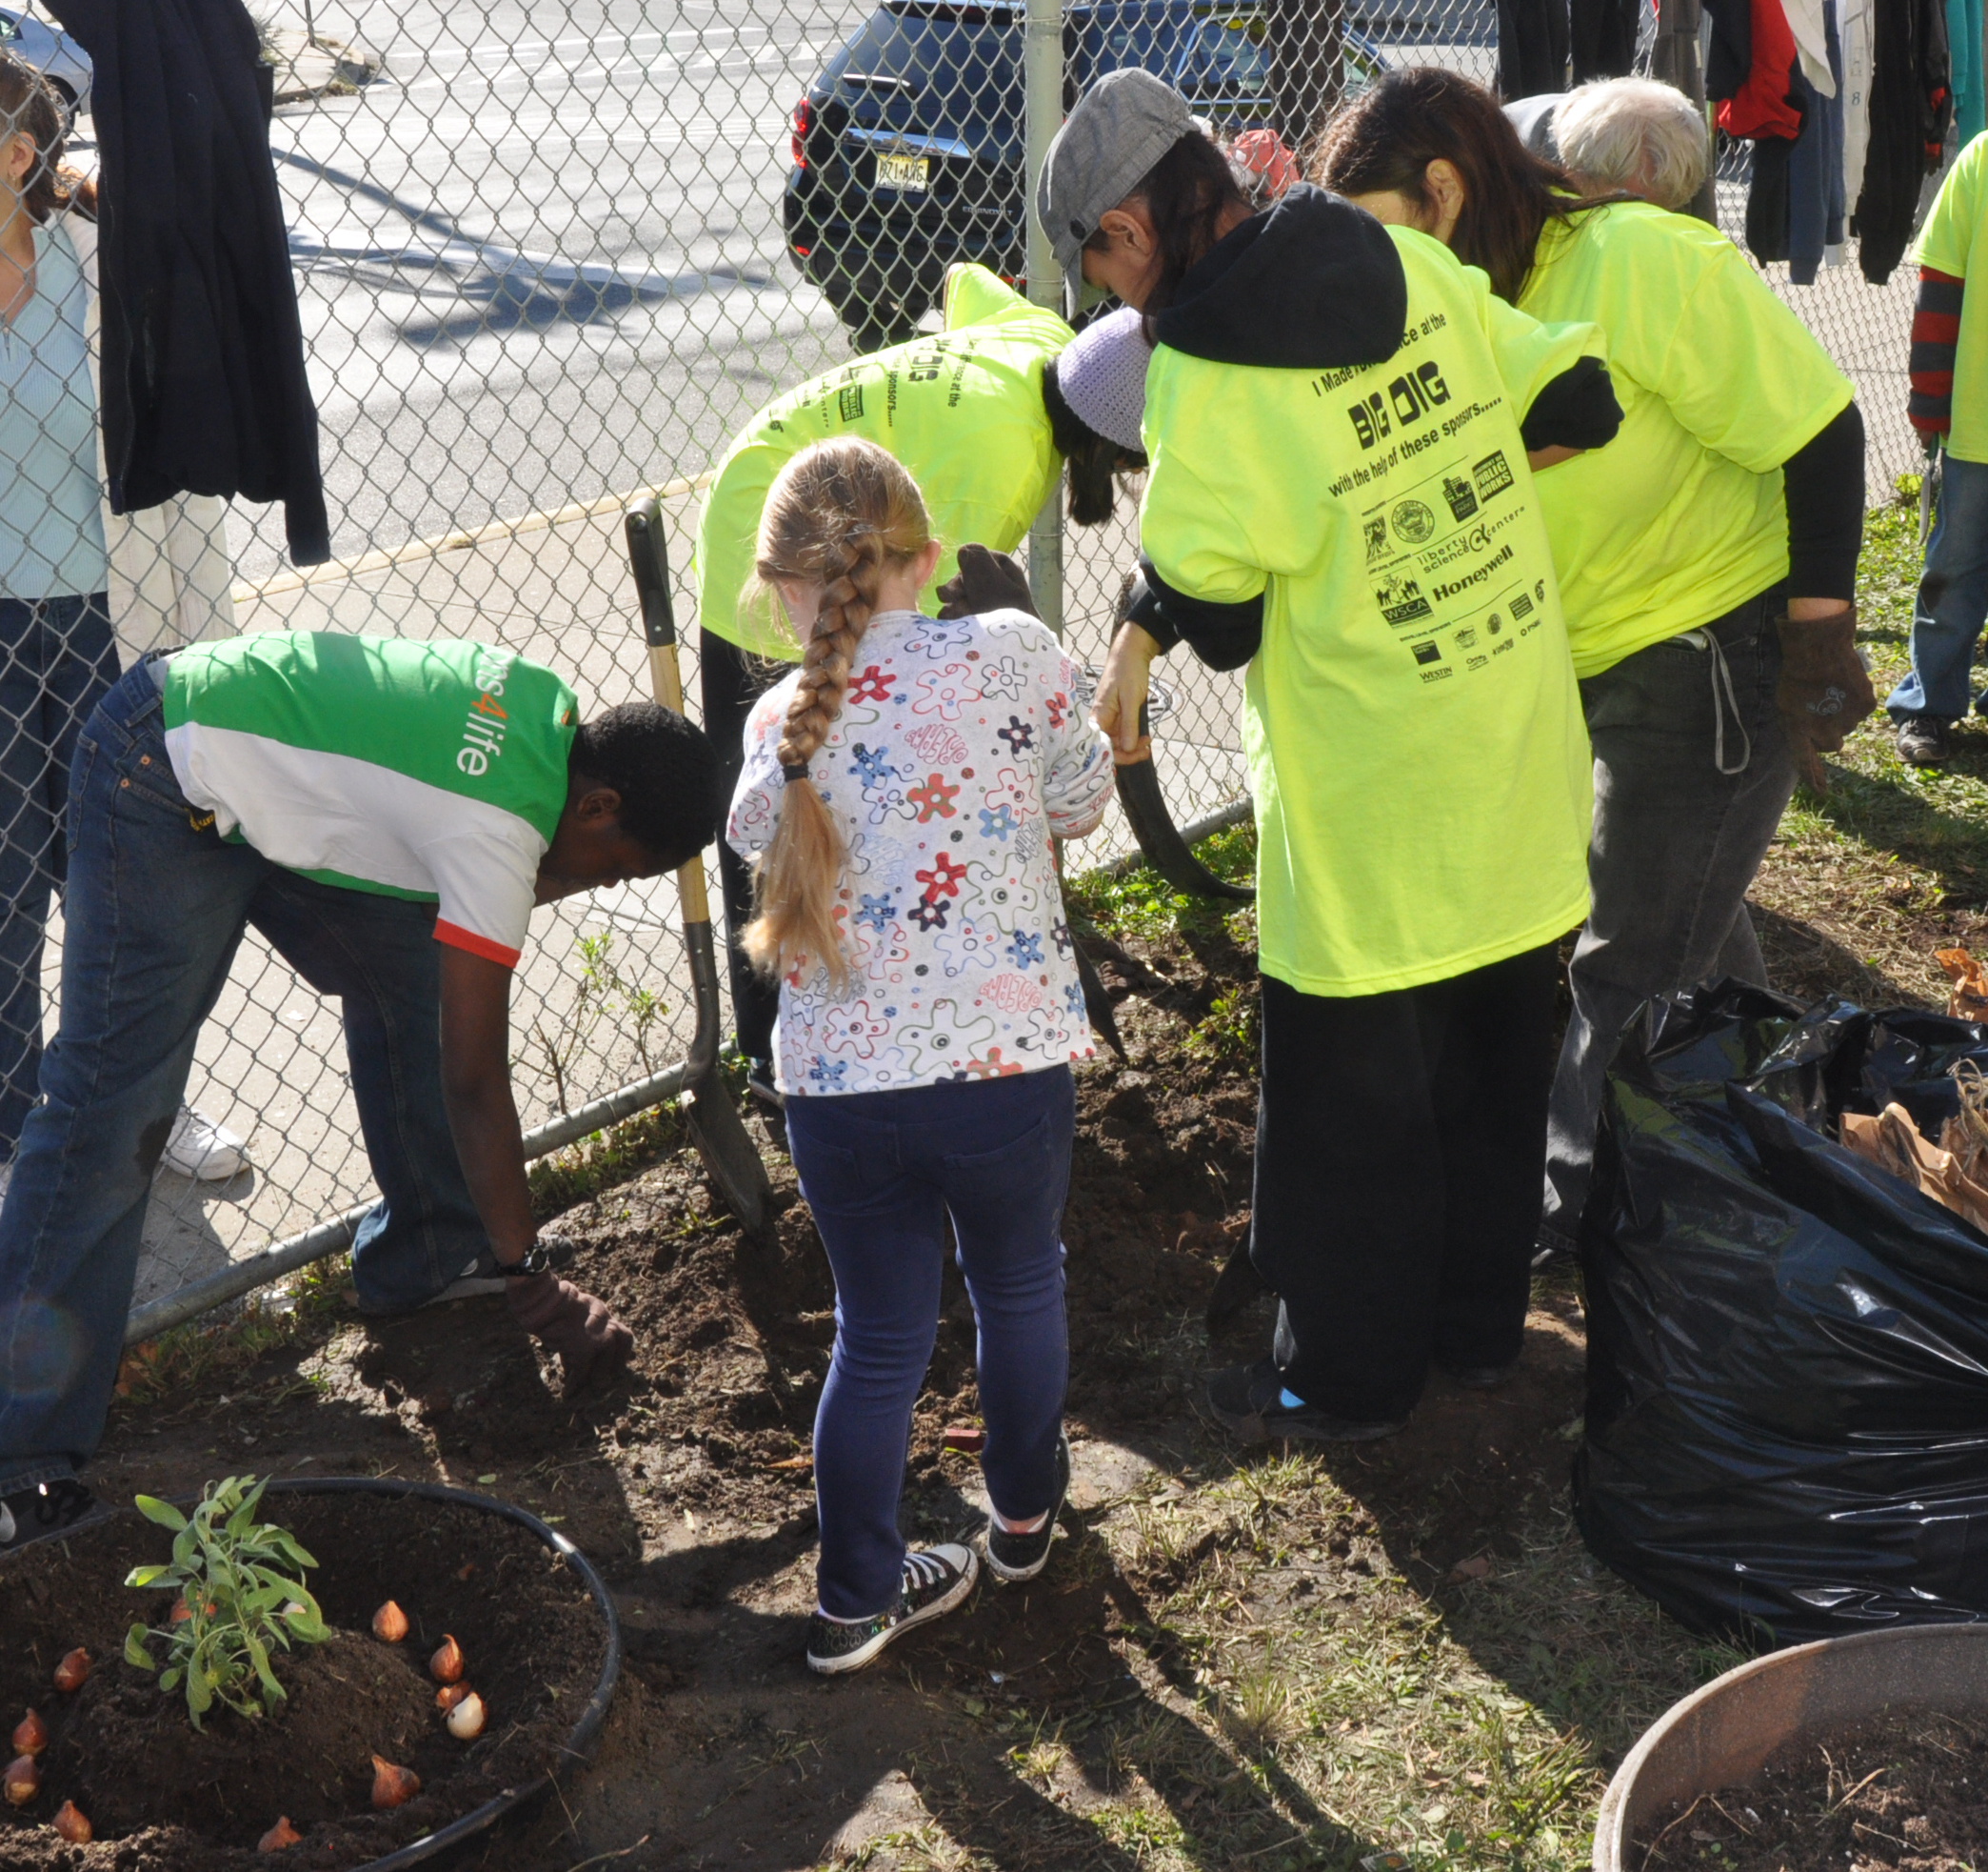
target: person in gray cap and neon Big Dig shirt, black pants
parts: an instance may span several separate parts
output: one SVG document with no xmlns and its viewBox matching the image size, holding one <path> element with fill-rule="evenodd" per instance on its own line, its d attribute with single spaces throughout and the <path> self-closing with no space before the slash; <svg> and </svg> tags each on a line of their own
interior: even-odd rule
<svg viewBox="0 0 1988 1872">
<path fill-rule="evenodd" d="M 1555 943 L 1586 913 L 1588 742 L 1535 466 L 1620 422 L 1594 326 L 1543 326 L 1439 243 L 1298 185 L 1252 215 L 1187 101 L 1085 95 L 1036 213 L 1072 284 L 1143 312 L 1147 664 L 1248 664 L 1262 1090 L 1246 1438 L 1402 1426 L 1429 1363 L 1499 1383 L 1525 1331 Z"/>
</svg>

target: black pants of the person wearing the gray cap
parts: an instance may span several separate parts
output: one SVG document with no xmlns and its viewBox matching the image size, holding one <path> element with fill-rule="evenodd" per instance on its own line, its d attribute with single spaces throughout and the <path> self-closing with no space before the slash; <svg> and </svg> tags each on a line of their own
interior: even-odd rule
<svg viewBox="0 0 1988 1872">
<path fill-rule="evenodd" d="M 1262 979 L 1250 1259 L 1308 1404 L 1413 1408 L 1519 1357 L 1547 1162 L 1555 945 L 1388 995 Z"/>
</svg>

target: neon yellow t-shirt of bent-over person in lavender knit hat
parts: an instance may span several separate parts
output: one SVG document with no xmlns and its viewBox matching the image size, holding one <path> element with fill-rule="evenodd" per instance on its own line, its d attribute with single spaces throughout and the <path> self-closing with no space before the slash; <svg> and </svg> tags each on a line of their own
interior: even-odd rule
<svg viewBox="0 0 1988 1872">
<path fill-rule="evenodd" d="M 698 625 L 761 656 L 799 658 L 785 617 L 740 613 L 767 489 L 787 462 L 829 436 L 863 436 L 911 469 L 946 545 L 922 605 L 952 577 L 956 549 L 1016 547 L 1056 487 L 1042 366 L 1072 340 L 986 267 L 946 281 L 946 328 L 855 358 L 767 404 L 732 444 L 698 519 Z M 775 607 L 777 609 L 777 607 Z"/>
</svg>

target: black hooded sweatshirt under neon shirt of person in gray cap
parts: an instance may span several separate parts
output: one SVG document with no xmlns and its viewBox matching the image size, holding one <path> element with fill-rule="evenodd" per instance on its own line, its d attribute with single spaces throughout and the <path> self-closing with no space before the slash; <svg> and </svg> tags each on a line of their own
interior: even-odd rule
<svg viewBox="0 0 1988 1872">
<path fill-rule="evenodd" d="M 1300 183 L 1217 241 L 1149 318 L 1159 344 L 1215 364 L 1342 370 L 1386 364 L 1408 326 L 1394 237 L 1364 209 Z M 1521 412 L 1527 450 L 1602 448 L 1622 424 L 1608 368 L 1582 358 Z M 1262 595 L 1237 605 L 1167 585 L 1149 559 L 1125 617 L 1163 649 L 1185 641 L 1213 668 L 1241 668 L 1262 643 Z"/>
</svg>

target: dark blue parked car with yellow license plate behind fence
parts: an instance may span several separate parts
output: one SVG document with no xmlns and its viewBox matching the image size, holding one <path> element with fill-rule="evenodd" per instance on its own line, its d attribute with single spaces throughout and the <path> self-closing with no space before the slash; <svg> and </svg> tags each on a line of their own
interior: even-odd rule
<svg viewBox="0 0 1988 1872">
<path fill-rule="evenodd" d="M 909 336 L 946 267 L 1024 269 L 1020 4 L 883 0 L 793 107 L 787 247 L 859 352 Z M 1380 70 L 1344 30 L 1346 92 Z M 1095 0 L 1064 10 L 1064 99 L 1105 72 L 1157 72 L 1233 133 L 1268 125 L 1268 26 L 1221 0 Z"/>
</svg>

